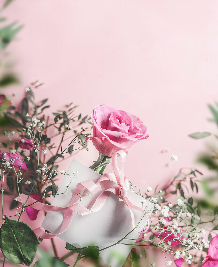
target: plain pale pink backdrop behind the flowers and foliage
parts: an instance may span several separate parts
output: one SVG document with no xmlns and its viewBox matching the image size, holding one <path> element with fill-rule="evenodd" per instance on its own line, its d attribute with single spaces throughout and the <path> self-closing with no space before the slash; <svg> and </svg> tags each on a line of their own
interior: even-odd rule
<svg viewBox="0 0 218 267">
<path fill-rule="evenodd" d="M 217 100 L 217 5 L 199 0 L 14 1 L 4 15 L 24 24 L 8 48 L 21 84 L 5 92 L 17 92 L 12 102 L 18 103 L 25 86 L 39 80 L 45 85 L 36 91 L 37 99 L 49 97 L 50 112 L 73 101 L 84 115 L 110 104 L 140 117 L 150 137 L 130 149 L 126 176 L 142 190 L 161 188 L 179 168 L 198 167 L 196 154 L 205 140 L 188 134 L 216 129 L 207 121 L 207 103 Z M 170 151 L 161 153 L 163 148 Z M 89 150 L 74 158 L 91 165 L 98 152 L 91 142 Z M 171 162 L 171 154 L 179 160 Z M 34 227 L 40 219 L 26 221 Z"/>
</svg>

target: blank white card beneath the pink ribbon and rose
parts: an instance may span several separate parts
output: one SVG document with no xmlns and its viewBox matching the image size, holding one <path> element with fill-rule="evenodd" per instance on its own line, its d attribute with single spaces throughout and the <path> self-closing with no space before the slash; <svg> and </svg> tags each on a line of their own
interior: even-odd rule
<svg viewBox="0 0 218 267">
<path fill-rule="evenodd" d="M 73 171 L 77 171 L 75 176 L 73 175 Z M 67 172 L 71 177 L 74 176 L 74 178 L 70 183 L 69 175 L 65 175 L 64 180 L 58 189 L 57 195 L 54 197 L 52 202 L 52 205 L 54 206 L 67 206 L 72 198 L 72 194 L 70 193 L 74 193 L 78 182 L 90 179 L 97 183 L 101 177 L 100 174 L 76 160 L 72 161 Z M 65 192 L 67 183 L 70 183 L 70 188 L 67 191 L 68 194 L 58 195 Z M 105 188 L 102 187 L 102 191 L 104 190 Z M 85 195 L 82 197 L 82 202 L 80 202 L 80 204 L 90 208 L 102 191 L 95 195 Z M 141 196 L 133 193 L 132 191 L 128 191 L 126 196 L 134 205 L 140 207 L 142 207 L 142 201 L 145 202 L 143 207 L 147 206 L 146 214 L 148 217 L 150 216 L 153 211 L 153 203 L 143 199 Z M 139 224 L 141 227 L 137 228 L 141 231 L 142 227 L 146 225 L 148 217 L 146 215 L 143 217 L 141 211 L 135 209 L 132 210 L 135 217 L 135 224 L 141 220 Z M 42 223 L 42 227 L 51 233 L 58 233 L 63 220 L 63 214 L 64 211 L 48 212 Z M 132 246 L 136 242 L 136 240 L 131 239 L 137 239 L 139 236 L 136 230 L 132 230 L 133 225 L 129 207 L 125 205 L 123 201 L 119 201 L 117 195 L 110 193 L 100 211 L 86 216 L 81 216 L 74 212 L 70 226 L 64 233 L 59 234 L 58 237 L 77 248 L 96 245 L 100 250 L 103 249 L 100 251 L 100 261 L 112 267 L 121 267 L 124 264 L 125 259 L 128 257 Z M 131 245 L 116 244 L 111 246 L 125 236 L 129 239 L 123 239 L 122 243 Z M 111 247 L 104 249 L 109 246 Z"/>
</svg>

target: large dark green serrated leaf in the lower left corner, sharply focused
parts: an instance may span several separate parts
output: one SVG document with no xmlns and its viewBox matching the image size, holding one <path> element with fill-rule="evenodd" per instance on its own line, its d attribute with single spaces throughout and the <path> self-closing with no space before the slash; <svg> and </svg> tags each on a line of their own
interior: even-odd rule
<svg viewBox="0 0 218 267">
<path fill-rule="evenodd" d="M 37 246 L 37 236 L 26 223 L 5 216 L 5 223 L 1 226 L 0 247 L 7 259 L 29 266 L 35 258 Z"/>
</svg>

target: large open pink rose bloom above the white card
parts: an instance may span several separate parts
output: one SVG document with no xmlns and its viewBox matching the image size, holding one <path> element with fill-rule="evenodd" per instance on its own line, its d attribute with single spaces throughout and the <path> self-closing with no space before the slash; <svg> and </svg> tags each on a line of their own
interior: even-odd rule
<svg viewBox="0 0 218 267">
<path fill-rule="evenodd" d="M 92 140 L 96 149 L 111 157 L 120 149 L 128 153 L 129 148 L 149 137 L 147 127 L 134 116 L 110 105 L 100 105 L 92 112 L 94 125 Z"/>
</svg>

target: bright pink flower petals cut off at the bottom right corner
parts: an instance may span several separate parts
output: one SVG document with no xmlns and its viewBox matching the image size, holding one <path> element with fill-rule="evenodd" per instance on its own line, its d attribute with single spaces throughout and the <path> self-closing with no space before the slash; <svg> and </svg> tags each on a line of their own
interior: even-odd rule
<svg viewBox="0 0 218 267">
<path fill-rule="evenodd" d="M 204 259 L 201 267 L 218 267 L 218 235 L 211 239 L 207 257 Z"/>
</svg>

